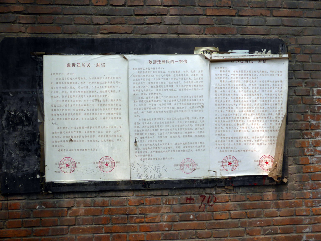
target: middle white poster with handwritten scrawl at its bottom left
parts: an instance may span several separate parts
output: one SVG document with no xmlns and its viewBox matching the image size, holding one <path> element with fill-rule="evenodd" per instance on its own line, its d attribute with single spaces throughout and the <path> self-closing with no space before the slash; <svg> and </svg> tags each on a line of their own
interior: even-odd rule
<svg viewBox="0 0 321 241">
<path fill-rule="evenodd" d="M 209 175 L 209 61 L 203 55 L 129 55 L 131 178 Z"/>
</svg>

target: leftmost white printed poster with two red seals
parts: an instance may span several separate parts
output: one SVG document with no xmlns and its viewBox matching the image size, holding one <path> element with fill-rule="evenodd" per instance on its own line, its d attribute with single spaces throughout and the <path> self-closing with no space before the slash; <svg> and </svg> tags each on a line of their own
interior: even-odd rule
<svg viewBox="0 0 321 241">
<path fill-rule="evenodd" d="M 46 182 L 130 180 L 128 61 L 44 56 Z"/>
</svg>

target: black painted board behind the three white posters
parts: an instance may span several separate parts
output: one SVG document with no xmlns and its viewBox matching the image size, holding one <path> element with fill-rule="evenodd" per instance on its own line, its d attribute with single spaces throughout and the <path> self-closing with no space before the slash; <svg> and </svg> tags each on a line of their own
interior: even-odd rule
<svg viewBox="0 0 321 241">
<path fill-rule="evenodd" d="M 220 52 L 266 49 L 285 54 L 279 39 L 240 38 L 12 38 L 0 42 L 0 166 L 1 193 L 72 192 L 267 185 L 267 176 L 170 181 L 109 181 L 45 183 L 40 162 L 38 104 L 42 94 L 42 61 L 35 52 L 64 54 L 193 54 L 195 47 L 219 47 Z M 38 53 L 39 56 L 39 53 Z M 287 135 L 286 135 L 287 136 Z M 287 139 L 287 138 L 285 138 Z M 283 177 L 287 174 L 285 141 Z M 210 157 L 212 158 L 212 157 Z"/>
</svg>

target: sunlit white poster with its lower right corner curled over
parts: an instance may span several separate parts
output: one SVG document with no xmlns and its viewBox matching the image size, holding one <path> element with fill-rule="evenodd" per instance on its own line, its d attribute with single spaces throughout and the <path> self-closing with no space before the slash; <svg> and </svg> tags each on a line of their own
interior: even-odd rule
<svg viewBox="0 0 321 241">
<path fill-rule="evenodd" d="M 210 170 L 216 177 L 267 175 L 286 114 L 288 59 L 239 59 L 210 68 Z"/>
</svg>

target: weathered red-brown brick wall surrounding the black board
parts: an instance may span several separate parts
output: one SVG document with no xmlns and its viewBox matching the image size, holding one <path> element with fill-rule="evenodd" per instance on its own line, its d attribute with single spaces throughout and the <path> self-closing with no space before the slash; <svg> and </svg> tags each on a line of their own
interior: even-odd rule
<svg viewBox="0 0 321 241">
<path fill-rule="evenodd" d="M 0 3 L 0 38 L 281 38 L 292 54 L 287 184 L 0 196 L 1 240 L 321 240 L 321 1 Z"/>
</svg>

